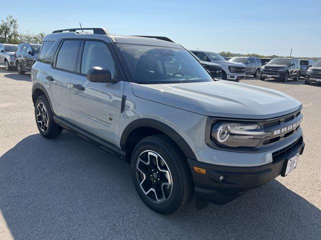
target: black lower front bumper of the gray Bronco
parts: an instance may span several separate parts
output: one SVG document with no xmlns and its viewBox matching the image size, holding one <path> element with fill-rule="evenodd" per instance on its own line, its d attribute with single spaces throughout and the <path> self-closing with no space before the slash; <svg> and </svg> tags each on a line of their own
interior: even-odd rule
<svg viewBox="0 0 321 240">
<path fill-rule="evenodd" d="M 284 149 L 273 152 L 273 161 L 261 166 L 222 166 L 188 159 L 195 184 L 195 195 L 202 200 L 225 204 L 279 176 L 285 170 L 287 160 L 297 152 L 302 154 L 303 150 L 304 142 L 300 137 Z M 193 166 L 206 169 L 206 174 L 195 172 Z M 220 180 L 221 176 L 223 179 Z"/>
</svg>

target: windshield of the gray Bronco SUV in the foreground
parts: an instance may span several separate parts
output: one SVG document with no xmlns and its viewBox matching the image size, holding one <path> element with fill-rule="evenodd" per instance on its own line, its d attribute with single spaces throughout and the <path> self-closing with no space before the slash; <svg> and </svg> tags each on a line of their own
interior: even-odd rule
<svg viewBox="0 0 321 240">
<path fill-rule="evenodd" d="M 142 84 L 213 81 L 185 49 L 118 44 L 134 82 Z"/>
</svg>

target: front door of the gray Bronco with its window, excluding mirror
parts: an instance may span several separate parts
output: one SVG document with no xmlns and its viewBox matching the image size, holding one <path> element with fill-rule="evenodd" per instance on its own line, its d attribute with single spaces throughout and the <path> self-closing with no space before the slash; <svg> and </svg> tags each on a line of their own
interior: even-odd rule
<svg viewBox="0 0 321 240">
<path fill-rule="evenodd" d="M 110 50 L 105 42 L 85 40 L 80 74 L 71 79 L 72 121 L 92 134 L 117 144 L 124 82 L 88 81 L 86 73 L 93 66 L 106 67 L 112 78 L 119 78 Z"/>
</svg>

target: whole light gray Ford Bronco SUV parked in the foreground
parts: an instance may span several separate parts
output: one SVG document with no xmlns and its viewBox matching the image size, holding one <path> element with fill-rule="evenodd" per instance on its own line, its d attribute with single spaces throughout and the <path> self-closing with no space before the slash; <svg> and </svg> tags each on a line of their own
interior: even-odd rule
<svg viewBox="0 0 321 240">
<path fill-rule="evenodd" d="M 127 161 L 142 201 L 162 214 L 193 196 L 198 208 L 224 204 L 293 170 L 304 148 L 301 103 L 214 79 L 164 39 L 104 28 L 46 35 L 31 70 L 40 133 L 66 129 Z"/>
</svg>

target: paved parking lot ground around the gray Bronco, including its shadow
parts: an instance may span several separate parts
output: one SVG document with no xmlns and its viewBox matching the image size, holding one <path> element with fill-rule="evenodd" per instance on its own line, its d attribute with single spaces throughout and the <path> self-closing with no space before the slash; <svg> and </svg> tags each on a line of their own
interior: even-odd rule
<svg viewBox="0 0 321 240">
<path fill-rule="evenodd" d="M 162 216 L 136 194 L 128 164 L 67 131 L 42 137 L 30 74 L 0 67 L 0 239 L 320 239 L 321 87 L 242 82 L 303 102 L 298 167 L 226 205 Z"/>
</svg>

